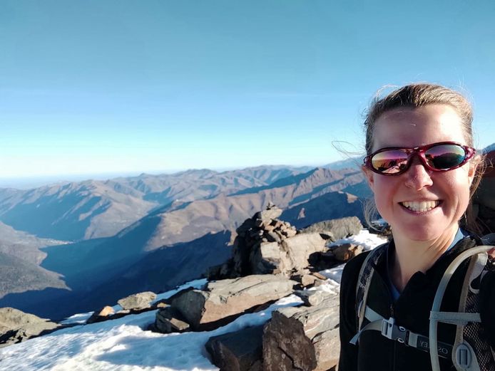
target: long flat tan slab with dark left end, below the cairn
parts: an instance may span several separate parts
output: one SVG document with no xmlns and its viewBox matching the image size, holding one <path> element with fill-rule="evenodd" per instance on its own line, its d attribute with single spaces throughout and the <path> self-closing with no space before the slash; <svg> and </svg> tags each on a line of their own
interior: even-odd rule
<svg viewBox="0 0 495 371">
<path fill-rule="evenodd" d="M 216 328 L 258 305 L 292 293 L 296 284 L 282 276 L 253 275 L 210 282 L 204 290 L 186 290 L 170 298 L 193 330 Z"/>
</svg>

